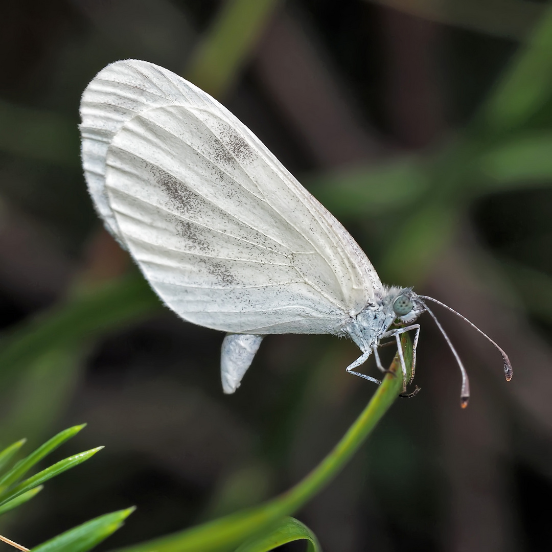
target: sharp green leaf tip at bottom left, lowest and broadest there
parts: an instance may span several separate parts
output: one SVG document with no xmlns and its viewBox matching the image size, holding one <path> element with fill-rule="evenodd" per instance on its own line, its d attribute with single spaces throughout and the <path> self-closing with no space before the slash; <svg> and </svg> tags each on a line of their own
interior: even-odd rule
<svg viewBox="0 0 552 552">
<path fill-rule="evenodd" d="M 135 508 L 127 508 L 91 519 L 45 543 L 34 546 L 31 550 L 33 552 L 87 552 L 119 529 L 134 510 Z"/>
</svg>

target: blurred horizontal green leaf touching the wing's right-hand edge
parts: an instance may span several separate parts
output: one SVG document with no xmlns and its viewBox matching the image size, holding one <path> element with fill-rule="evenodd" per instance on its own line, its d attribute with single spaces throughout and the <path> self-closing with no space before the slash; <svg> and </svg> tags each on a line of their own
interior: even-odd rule
<svg viewBox="0 0 552 552">
<path fill-rule="evenodd" d="M 364 216 L 400 209 L 429 188 L 418 158 L 401 157 L 381 166 L 355 167 L 307 178 L 307 188 L 336 216 Z"/>
</svg>

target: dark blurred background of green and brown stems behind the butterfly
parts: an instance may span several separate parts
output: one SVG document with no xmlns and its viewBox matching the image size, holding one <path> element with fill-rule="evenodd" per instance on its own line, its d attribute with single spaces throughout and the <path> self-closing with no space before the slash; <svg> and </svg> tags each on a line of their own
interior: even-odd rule
<svg viewBox="0 0 552 552">
<path fill-rule="evenodd" d="M 86 192 L 80 95 L 129 57 L 215 95 L 384 282 L 461 311 L 514 365 L 506 384 L 490 344 L 439 311 L 471 378 L 461 410 L 424 316 L 422 391 L 296 514 L 324 550 L 549 550 L 552 18 L 529 0 L 2 3 L 0 444 L 30 450 L 88 422 L 60 458 L 106 448 L 0 532 L 32 546 L 137 505 L 110 549 L 258 503 L 316 465 L 374 391 L 344 372 L 351 343 L 271 336 L 222 394 L 222 334 L 160 305 Z"/>
</svg>

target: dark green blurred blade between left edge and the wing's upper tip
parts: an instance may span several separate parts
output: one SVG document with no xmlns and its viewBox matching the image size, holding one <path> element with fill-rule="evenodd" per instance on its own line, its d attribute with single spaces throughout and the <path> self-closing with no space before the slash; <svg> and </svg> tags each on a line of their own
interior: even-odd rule
<svg viewBox="0 0 552 552">
<path fill-rule="evenodd" d="M 78 168 L 77 122 L 0 100 L 0 151 Z"/>
</svg>

